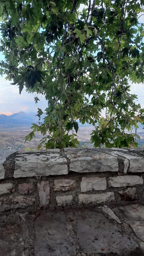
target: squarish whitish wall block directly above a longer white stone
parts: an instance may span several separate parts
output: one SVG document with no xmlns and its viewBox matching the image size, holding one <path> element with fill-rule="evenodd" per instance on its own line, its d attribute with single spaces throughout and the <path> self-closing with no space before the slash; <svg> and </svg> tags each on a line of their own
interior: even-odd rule
<svg viewBox="0 0 144 256">
<path fill-rule="evenodd" d="M 91 191 L 92 189 L 105 190 L 107 188 L 106 177 L 82 177 L 80 188 L 82 192 Z"/>
</svg>

